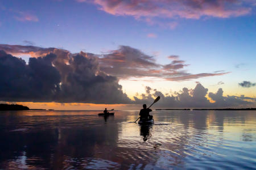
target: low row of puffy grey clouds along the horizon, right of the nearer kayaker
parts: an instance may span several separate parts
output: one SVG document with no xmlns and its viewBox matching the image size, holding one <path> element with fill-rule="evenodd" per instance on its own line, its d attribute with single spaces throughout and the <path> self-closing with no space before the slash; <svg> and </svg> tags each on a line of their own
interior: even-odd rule
<svg viewBox="0 0 256 170">
<path fill-rule="evenodd" d="M 134 97 L 137 104 L 151 104 L 156 96 L 160 96 L 158 103 L 154 105 L 155 108 L 228 108 L 228 107 L 255 107 L 256 98 L 241 96 L 223 96 L 222 88 L 214 94 L 208 93 L 208 89 L 200 83 L 196 84 L 194 89 L 189 90 L 183 88 L 181 92 L 175 95 L 163 95 L 160 91 L 153 91 L 148 93 L 146 87 L 146 94 L 142 94 L 140 98 Z M 210 102 L 207 96 L 213 100 Z"/>
</svg>

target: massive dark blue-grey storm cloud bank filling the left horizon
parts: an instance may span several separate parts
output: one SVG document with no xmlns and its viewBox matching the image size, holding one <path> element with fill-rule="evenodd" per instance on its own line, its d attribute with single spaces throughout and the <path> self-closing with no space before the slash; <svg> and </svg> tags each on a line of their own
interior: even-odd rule
<svg viewBox="0 0 256 170">
<path fill-rule="evenodd" d="M 59 56 L 58 56 L 59 55 Z M 61 103 L 131 103 L 118 79 L 84 53 L 23 59 L 0 51 L 0 100 Z"/>
</svg>

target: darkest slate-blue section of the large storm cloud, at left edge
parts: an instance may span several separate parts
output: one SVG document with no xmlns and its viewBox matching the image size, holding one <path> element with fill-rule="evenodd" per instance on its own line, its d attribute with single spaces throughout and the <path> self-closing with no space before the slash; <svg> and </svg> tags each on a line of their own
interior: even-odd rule
<svg viewBox="0 0 256 170">
<path fill-rule="evenodd" d="M 0 100 L 53 100 L 59 90 L 59 71 L 52 67 L 54 54 L 30 58 L 29 65 L 20 58 L 0 51 Z"/>
</svg>

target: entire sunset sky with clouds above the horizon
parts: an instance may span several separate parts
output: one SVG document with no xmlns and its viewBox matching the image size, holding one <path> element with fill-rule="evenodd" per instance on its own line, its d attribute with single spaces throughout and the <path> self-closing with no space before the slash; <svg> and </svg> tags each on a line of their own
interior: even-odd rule
<svg viewBox="0 0 256 170">
<path fill-rule="evenodd" d="M 0 101 L 256 107 L 253 0 L 0 0 Z"/>
</svg>

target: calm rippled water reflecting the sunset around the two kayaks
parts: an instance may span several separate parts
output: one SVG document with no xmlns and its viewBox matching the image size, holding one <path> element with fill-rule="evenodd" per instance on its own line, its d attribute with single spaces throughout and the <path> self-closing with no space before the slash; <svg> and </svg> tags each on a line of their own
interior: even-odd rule
<svg viewBox="0 0 256 170">
<path fill-rule="evenodd" d="M 0 112 L 0 169 L 255 168 L 255 111 L 97 113 Z"/>
</svg>

